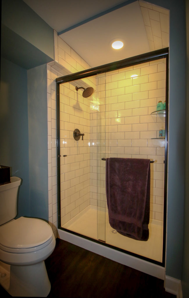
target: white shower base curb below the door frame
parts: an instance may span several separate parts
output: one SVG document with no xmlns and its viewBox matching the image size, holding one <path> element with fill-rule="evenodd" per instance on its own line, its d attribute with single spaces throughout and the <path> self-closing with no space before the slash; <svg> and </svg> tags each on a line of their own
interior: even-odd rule
<svg viewBox="0 0 189 298">
<path fill-rule="evenodd" d="M 104 256 L 110 260 L 118 262 L 122 265 L 129 266 L 131 268 L 134 268 L 136 270 L 142 271 L 146 274 L 150 274 L 154 277 L 164 280 L 165 268 L 162 266 L 153 264 L 151 262 L 147 262 L 137 257 L 133 257 L 129 254 L 125 254 L 118 250 L 112 249 L 110 247 L 101 245 L 99 243 L 90 241 L 82 237 L 79 237 L 77 235 L 71 234 L 61 229 L 57 230 L 57 237 L 62 240 L 68 241 L 72 244 L 75 244 L 77 246 L 80 246 L 84 249 L 87 249 L 91 252 Z"/>
</svg>

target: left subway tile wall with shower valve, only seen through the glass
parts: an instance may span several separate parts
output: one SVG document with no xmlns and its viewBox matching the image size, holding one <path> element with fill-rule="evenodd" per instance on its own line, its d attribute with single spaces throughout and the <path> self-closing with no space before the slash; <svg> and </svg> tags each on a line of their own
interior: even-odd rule
<svg viewBox="0 0 189 298">
<path fill-rule="evenodd" d="M 60 85 L 62 226 L 90 204 L 90 100 L 75 86 L 72 82 Z M 84 133 L 83 140 L 74 139 L 76 128 Z"/>
</svg>

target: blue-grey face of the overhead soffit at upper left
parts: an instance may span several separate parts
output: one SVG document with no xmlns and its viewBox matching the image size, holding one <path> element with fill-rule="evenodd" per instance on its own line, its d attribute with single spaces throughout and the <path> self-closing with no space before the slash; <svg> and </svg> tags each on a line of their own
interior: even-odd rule
<svg viewBox="0 0 189 298">
<path fill-rule="evenodd" d="M 1 23 L 54 60 L 53 29 L 24 1 L 2 0 Z"/>
</svg>

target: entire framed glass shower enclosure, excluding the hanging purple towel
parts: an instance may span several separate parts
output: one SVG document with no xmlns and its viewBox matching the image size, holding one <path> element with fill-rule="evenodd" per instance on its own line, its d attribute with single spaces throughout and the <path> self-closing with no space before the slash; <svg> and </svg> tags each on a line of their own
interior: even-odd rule
<svg viewBox="0 0 189 298">
<path fill-rule="evenodd" d="M 59 229 L 164 266 L 168 48 L 66 75 L 56 83 Z M 159 101 L 163 108 L 156 111 Z M 108 157 L 152 161 L 148 241 L 127 238 L 109 225 Z"/>
</svg>

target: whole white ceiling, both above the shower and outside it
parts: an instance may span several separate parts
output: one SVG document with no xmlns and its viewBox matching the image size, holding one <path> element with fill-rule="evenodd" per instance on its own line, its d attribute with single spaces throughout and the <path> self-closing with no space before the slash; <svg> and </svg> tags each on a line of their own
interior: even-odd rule
<svg viewBox="0 0 189 298">
<path fill-rule="evenodd" d="M 123 0 L 23 0 L 57 32 L 111 9 Z M 149 4 L 148 4 L 149 5 Z M 59 35 L 91 67 L 149 52 L 149 41 L 138 1 L 101 15 Z M 122 38 L 121 50 L 110 41 Z"/>
</svg>

